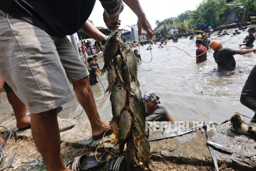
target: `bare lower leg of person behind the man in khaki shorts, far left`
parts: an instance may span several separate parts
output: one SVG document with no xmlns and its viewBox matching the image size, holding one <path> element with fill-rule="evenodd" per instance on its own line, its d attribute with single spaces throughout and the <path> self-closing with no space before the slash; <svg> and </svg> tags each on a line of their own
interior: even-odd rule
<svg viewBox="0 0 256 171">
<path fill-rule="evenodd" d="M 27 107 L 22 101 L 16 96 L 14 92 L 8 92 L 7 98 L 10 102 L 17 121 L 17 128 L 25 128 L 30 125 L 30 118 L 26 116 Z"/>
</svg>

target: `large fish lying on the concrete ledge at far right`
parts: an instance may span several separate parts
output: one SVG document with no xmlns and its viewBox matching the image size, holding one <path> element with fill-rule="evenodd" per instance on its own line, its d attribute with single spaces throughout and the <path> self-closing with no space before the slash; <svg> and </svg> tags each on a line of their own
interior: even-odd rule
<svg viewBox="0 0 256 171">
<path fill-rule="evenodd" d="M 255 129 L 251 130 L 252 126 L 254 126 L 254 128 L 256 127 L 256 123 L 245 124 L 243 119 L 240 117 L 240 114 L 234 114 L 230 118 L 230 122 L 232 123 L 233 128 L 237 132 L 239 132 L 241 134 L 244 134 L 244 135 L 254 135 L 254 136 L 256 136 Z"/>
</svg>

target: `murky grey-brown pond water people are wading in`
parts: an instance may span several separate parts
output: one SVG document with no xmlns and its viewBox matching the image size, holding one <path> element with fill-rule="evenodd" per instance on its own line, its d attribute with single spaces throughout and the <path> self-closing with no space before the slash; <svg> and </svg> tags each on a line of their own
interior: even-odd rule
<svg viewBox="0 0 256 171">
<path fill-rule="evenodd" d="M 231 37 L 233 30 L 227 30 L 230 35 L 222 37 L 213 34 L 209 40 L 221 41 L 223 48 L 238 49 L 238 45 L 242 43 L 248 32 L 244 31 Z M 252 117 L 254 113 L 242 105 L 239 98 L 250 70 L 255 65 L 256 55 L 254 53 L 234 55 L 237 63 L 235 73 L 221 73 L 215 70 L 217 64 L 213 58 L 213 50 L 207 51 L 207 61 L 200 64 L 196 64 L 195 57 L 188 56 L 188 54 L 195 56 L 197 49 L 195 42 L 195 39 L 179 38 L 177 43 L 167 40 L 167 45 L 161 49 L 158 45 L 152 45 L 151 52 L 146 50 L 148 45 L 137 48 L 143 60 L 138 63 L 138 80 L 142 94 L 147 90 L 155 90 L 160 97 L 160 105 L 167 108 L 175 121 L 205 120 L 221 123 L 230 119 L 235 112 Z M 177 46 L 188 54 L 168 46 Z M 151 53 L 153 59 L 150 62 Z M 98 62 L 102 67 L 103 59 L 99 59 Z M 99 82 L 92 89 L 100 116 L 105 120 L 111 120 L 109 94 L 104 94 L 108 86 L 106 77 L 107 74 L 99 76 L 103 86 Z M 82 107 L 76 101 L 73 104 L 69 103 L 69 106 L 77 106 L 77 108 L 72 115 L 65 113 L 61 117 L 73 118 L 82 111 Z M 87 118 L 86 114 L 82 114 L 77 119 L 85 118 Z"/>
</svg>

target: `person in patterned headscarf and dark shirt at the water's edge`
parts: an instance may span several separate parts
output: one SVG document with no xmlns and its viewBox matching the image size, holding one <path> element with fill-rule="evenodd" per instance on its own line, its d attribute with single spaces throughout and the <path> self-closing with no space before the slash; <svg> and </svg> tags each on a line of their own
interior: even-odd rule
<svg viewBox="0 0 256 171">
<path fill-rule="evenodd" d="M 147 91 L 144 94 L 143 99 L 146 103 L 147 109 L 146 121 L 174 122 L 166 108 L 158 105 L 160 104 L 160 98 L 155 91 Z"/>
</svg>

